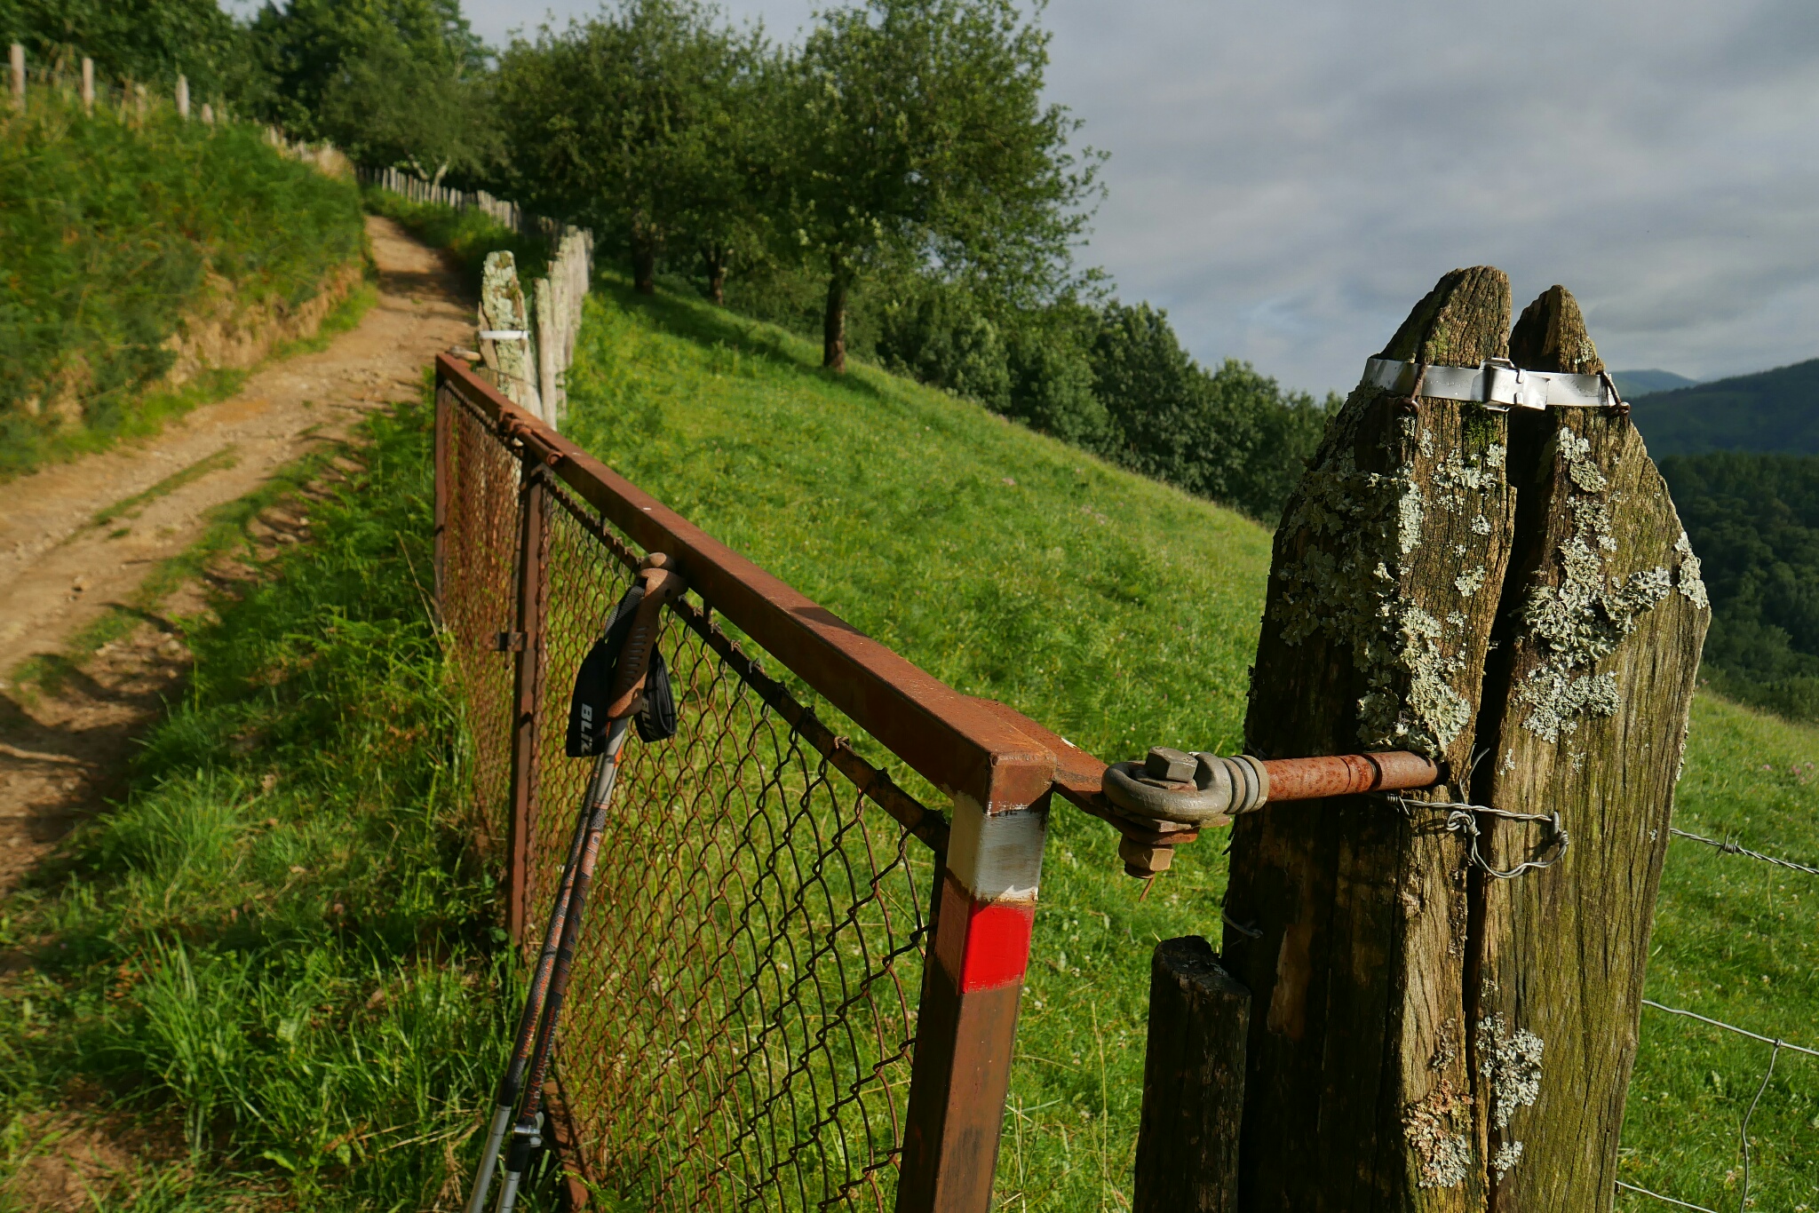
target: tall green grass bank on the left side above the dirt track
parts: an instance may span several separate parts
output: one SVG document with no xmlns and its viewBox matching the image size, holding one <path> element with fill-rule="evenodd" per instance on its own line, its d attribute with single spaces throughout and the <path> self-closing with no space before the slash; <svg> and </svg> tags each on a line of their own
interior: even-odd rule
<svg viewBox="0 0 1819 1213">
<path fill-rule="evenodd" d="M 0 113 L 0 478 L 193 404 L 144 393 L 220 280 L 238 306 L 295 307 L 360 242 L 353 184 L 286 160 L 253 127 L 162 107 L 87 116 L 33 89 L 24 115 Z"/>
</svg>

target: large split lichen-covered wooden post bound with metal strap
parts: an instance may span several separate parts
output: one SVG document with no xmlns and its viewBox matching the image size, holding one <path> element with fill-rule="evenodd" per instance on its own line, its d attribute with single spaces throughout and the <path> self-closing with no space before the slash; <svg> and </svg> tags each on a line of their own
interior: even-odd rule
<svg viewBox="0 0 1819 1213">
<path fill-rule="evenodd" d="M 1508 324 L 1499 271 L 1446 275 L 1381 355 L 1413 395 L 1352 393 L 1275 536 L 1248 749 L 1413 749 L 1442 784 L 1233 827 L 1244 1209 L 1613 1198 L 1704 589 L 1626 415 L 1421 395 L 1601 371 L 1563 289 Z M 1570 847 L 1497 817 L 1555 811 Z"/>
</svg>

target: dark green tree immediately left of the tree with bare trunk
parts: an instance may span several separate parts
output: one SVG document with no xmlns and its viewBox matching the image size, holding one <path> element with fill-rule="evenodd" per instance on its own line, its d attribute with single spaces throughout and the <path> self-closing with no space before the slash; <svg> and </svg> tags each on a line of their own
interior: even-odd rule
<svg viewBox="0 0 1819 1213">
<path fill-rule="evenodd" d="M 562 33 L 513 42 L 498 102 L 520 196 L 617 233 L 638 291 L 658 258 L 698 255 L 719 298 L 760 247 L 757 147 L 768 144 L 762 29 L 737 33 L 698 0 L 622 0 Z"/>
</svg>

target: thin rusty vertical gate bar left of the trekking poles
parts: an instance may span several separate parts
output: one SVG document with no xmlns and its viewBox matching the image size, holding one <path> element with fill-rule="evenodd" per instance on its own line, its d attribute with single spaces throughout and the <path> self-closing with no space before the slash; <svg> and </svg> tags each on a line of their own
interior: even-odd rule
<svg viewBox="0 0 1819 1213">
<path fill-rule="evenodd" d="M 517 629 L 500 637 L 502 649 L 517 649 L 511 698 L 511 817 L 506 835 L 506 931 L 524 938 L 529 893 L 531 815 L 537 806 L 537 691 L 542 677 L 544 611 L 544 473 L 524 462 L 518 491 L 518 609 Z"/>
</svg>

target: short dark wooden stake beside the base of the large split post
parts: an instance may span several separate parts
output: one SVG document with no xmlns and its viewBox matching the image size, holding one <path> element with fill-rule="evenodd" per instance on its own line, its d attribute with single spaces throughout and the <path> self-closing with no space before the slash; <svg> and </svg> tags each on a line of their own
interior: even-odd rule
<svg viewBox="0 0 1819 1213">
<path fill-rule="evenodd" d="M 1135 1213 L 1237 1213 L 1250 991 L 1199 935 L 1150 960 Z"/>
</svg>

